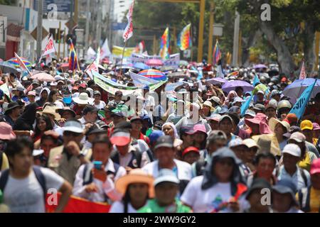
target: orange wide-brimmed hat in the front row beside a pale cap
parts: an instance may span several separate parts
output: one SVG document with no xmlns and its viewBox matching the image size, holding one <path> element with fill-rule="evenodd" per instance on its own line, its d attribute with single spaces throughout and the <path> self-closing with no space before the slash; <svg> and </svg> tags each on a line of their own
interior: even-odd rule
<svg viewBox="0 0 320 227">
<path fill-rule="evenodd" d="M 142 183 L 142 184 L 148 184 L 149 186 L 149 197 L 154 197 L 154 177 L 151 175 L 148 175 L 146 172 L 144 172 L 141 169 L 133 169 L 129 172 L 128 175 L 124 175 L 123 177 L 120 177 L 115 182 L 115 188 L 118 192 L 121 194 L 125 194 L 127 191 L 127 187 L 129 184 L 134 183 Z"/>
</svg>

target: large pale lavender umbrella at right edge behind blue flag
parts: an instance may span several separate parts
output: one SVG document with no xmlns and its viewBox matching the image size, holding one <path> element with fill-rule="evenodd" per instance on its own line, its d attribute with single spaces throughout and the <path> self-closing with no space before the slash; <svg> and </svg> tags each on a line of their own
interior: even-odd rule
<svg viewBox="0 0 320 227">
<path fill-rule="evenodd" d="M 307 79 L 296 79 L 292 84 L 289 84 L 282 94 L 284 96 L 289 96 L 294 99 L 298 99 L 301 95 L 302 92 L 304 92 L 304 89 L 306 87 L 309 87 L 310 85 L 314 84 L 314 79 L 312 78 L 307 78 Z M 314 84 L 314 89 L 312 90 L 311 93 L 311 99 L 316 96 L 320 92 L 320 79 L 316 80 L 316 84 Z"/>
</svg>

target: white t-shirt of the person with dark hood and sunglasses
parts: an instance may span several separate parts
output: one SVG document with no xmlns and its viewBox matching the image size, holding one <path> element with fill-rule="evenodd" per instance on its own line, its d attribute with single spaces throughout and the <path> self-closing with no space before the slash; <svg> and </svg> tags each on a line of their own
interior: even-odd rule
<svg viewBox="0 0 320 227">
<path fill-rule="evenodd" d="M 217 183 L 206 190 L 201 189 L 203 176 L 194 177 L 184 190 L 181 201 L 192 207 L 195 213 L 210 213 L 223 202 L 228 202 L 231 195 L 231 184 Z M 225 211 L 225 210 L 221 210 Z"/>
</svg>

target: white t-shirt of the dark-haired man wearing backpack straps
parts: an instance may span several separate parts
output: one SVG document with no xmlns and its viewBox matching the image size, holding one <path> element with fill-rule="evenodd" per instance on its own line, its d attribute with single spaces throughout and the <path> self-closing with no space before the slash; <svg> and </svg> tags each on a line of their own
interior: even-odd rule
<svg viewBox="0 0 320 227">
<path fill-rule="evenodd" d="M 46 179 L 46 190 L 60 189 L 64 179 L 52 170 L 41 167 Z M 43 189 L 32 171 L 24 179 L 15 179 L 9 175 L 4 189 L 4 204 L 9 206 L 13 213 L 45 213 Z"/>
</svg>

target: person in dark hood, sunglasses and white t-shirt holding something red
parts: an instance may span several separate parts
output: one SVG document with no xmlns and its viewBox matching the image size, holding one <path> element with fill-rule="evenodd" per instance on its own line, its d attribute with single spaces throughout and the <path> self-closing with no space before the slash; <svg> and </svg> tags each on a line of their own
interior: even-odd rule
<svg viewBox="0 0 320 227">
<path fill-rule="evenodd" d="M 191 179 L 181 201 L 196 213 L 234 212 L 240 210 L 238 197 L 247 187 L 240 174 L 240 162 L 232 150 L 220 148 L 203 176 Z M 235 196 L 237 194 L 237 196 Z"/>
</svg>

